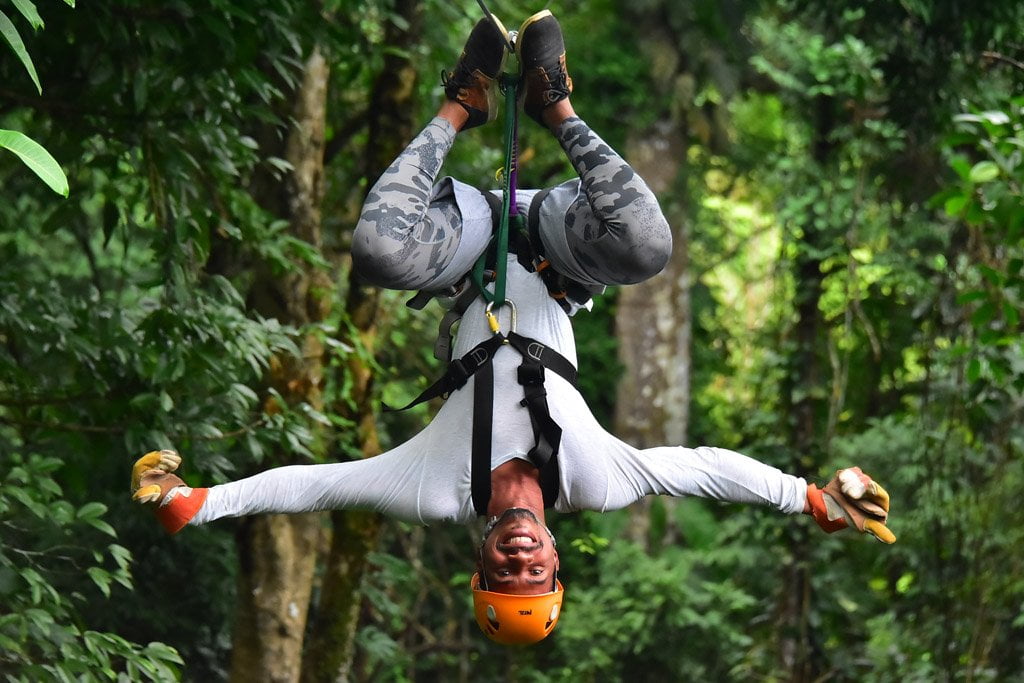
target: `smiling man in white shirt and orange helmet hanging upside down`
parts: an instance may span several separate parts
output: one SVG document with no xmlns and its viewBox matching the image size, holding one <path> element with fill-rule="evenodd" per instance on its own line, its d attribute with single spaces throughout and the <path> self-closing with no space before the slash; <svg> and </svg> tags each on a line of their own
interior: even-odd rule
<svg viewBox="0 0 1024 683">
<path fill-rule="evenodd" d="M 281 467 L 210 488 L 185 486 L 173 474 L 178 455 L 154 452 L 133 468 L 133 498 L 153 504 L 171 532 L 221 517 L 348 508 L 423 524 L 486 516 L 472 579 L 476 620 L 506 644 L 545 638 L 559 616 L 548 508 L 605 511 L 651 494 L 699 496 L 805 513 L 826 531 L 853 525 L 893 543 L 889 497 L 856 467 L 820 489 L 725 449 L 641 451 L 591 415 L 574 386 L 569 315 L 606 285 L 660 271 L 672 234 L 643 179 L 577 117 L 561 29 L 548 10 L 515 38 L 522 109 L 551 131 L 579 178 L 518 193 L 528 230 L 507 258 L 510 303 L 493 308 L 473 289 L 468 273 L 488 251 L 496 200 L 437 174 L 461 130 L 496 118 L 510 38 L 493 17 L 476 25 L 444 79 L 446 99 L 371 189 L 352 244 L 371 283 L 436 293 L 464 309 L 456 360 L 428 390 L 449 394 L 436 417 L 375 458 Z"/>
</svg>

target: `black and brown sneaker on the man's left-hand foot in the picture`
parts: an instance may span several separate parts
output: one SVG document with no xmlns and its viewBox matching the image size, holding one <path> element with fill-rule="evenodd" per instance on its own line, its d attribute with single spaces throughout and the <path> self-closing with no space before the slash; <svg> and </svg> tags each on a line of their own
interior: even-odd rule
<svg viewBox="0 0 1024 683">
<path fill-rule="evenodd" d="M 505 63 L 508 31 L 502 23 L 484 17 L 476 23 L 462 48 L 455 69 L 441 72 L 444 95 L 459 102 L 469 114 L 463 130 L 481 126 L 498 118 L 499 97 L 496 85 Z"/>
</svg>

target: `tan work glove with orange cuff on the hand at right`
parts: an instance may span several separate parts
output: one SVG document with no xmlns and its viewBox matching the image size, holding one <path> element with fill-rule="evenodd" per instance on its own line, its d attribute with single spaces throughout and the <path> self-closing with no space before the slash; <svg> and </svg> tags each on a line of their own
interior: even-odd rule
<svg viewBox="0 0 1024 683">
<path fill-rule="evenodd" d="M 807 501 L 814 520 L 828 533 L 853 526 L 882 543 L 896 543 L 886 526 L 889 494 L 859 467 L 839 470 L 824 488 L 808 485 Z"/>
</svg>

